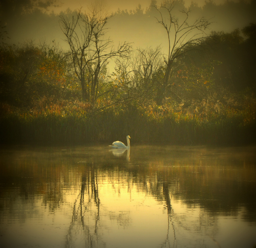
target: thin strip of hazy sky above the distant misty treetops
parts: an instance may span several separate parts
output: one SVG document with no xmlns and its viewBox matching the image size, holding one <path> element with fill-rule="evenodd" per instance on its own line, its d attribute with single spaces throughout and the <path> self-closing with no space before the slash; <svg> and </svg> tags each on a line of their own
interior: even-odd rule
<svg viewBox="0 0 256 248">
<path fill-rule="evenodd" d="M 67 8 L 70 9 L 78 9 L 78 8 L 86 8 L 92 4 L 92 2 L 101 1 L 105 4 L 107 11 L 115 12 L 118 10 L 134 10 L 140 4 L 142 9 L 146 9 L 149 7 L 151 0 L 60 0 L 62 3 L 61 7 L 54 8 L 54 11 L 64 11 Z M 233 2 L 239 2 L 239 0 L 232 0 Z M 197 3 L 198 6 L 202 6 L 205 3 L 205 0 L 184 0 L 185 6 L 189 6 L 191 2 Z M 213 0 L 215 4 L 223 4 L 226 0 Z M 245 1 L 246 2 L 246 1 Z M 157 0 L 157 3 L 160 4 L 161 0 Z"/>
</svg>

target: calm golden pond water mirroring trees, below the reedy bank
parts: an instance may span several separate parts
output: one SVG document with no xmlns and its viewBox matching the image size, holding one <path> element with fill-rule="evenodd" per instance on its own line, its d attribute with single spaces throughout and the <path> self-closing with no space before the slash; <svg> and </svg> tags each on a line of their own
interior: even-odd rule
<svg viewBox="0 0 256 248">
<path fill-rule="evenodd" d="M 0 247 L 256 247 L 256 148 L 2 148 Z"/>
</svg>

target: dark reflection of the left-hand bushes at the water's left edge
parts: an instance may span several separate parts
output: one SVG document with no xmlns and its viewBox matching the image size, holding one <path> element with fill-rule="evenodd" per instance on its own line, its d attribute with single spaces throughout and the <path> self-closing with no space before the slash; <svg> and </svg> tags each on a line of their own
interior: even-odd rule
<svg viewBox="0 0 256 248">
<path fill-rule="evenodd" d="M 4 192 L 12 191 L 12 202 L 20 198 L 22 203 L 35 205 L 35 196 L 42 197 L 42 203 L 50 211 L 56 210 L 63 202 L 63 187 L 65 169 L 58 164 L 47 161 L 38 163 L 37 159 L 21 157 L 8 162 L 8 166 L 0 165 L 0 180 L 4 185 Z M 12 190 L 16 188 L 16 190 Z M 18 189 L 18 190 L 17 190 Z"/>
</svg>

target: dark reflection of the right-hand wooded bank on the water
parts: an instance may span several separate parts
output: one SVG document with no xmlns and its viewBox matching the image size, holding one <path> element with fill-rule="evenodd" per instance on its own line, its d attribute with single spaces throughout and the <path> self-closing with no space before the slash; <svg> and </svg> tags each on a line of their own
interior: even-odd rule
<svg viewBox="0 0 256 248">
<path fill-rule="evenodd" d="M 146 167 L 133 168 L 132 173 L 142 191 L 151 192 L 160 200 L 164 196 L 159 193 L 159 187 L 167 182 L 172 197 L 181 199 L 188 207 L 198 205 L 212 214 L 234 215 L 243 206 L 248 213 L 244 217 L 255 221 L 255 216 L 249 214 L 256 205 L 255 165 L 250 161 L 236 164 L 235 159 L 232 160 L 233 164 L 188 158 L 166 164 L 159 158 L 148 162 Z M 147 178 L 150 182 L 146 182 Z M 157 182 L 153 182 L 155 178 Z"/>
</svg>

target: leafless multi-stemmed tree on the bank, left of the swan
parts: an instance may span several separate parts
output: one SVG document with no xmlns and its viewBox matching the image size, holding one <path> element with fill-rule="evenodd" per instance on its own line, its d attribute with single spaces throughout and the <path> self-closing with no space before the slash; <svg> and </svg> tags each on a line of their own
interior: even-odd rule
<svg viewBox="0 0 256 248">
<path fill-rule="evenodd" d="M 97 99 L 100 70 L 110 58 L 125 57 L 130 51 L 129 43 L 114 48 L 112 41 L 105 39 L 106 24 L 111 15 L 93 7 L 90 13 L 81 9 L 73 16 L 60 16 L 60 26 L 70 47 L 75 73 L 82 89 L 82 99 L 94 102 Z"/>
</svg>

